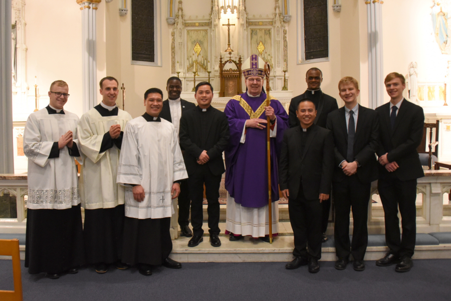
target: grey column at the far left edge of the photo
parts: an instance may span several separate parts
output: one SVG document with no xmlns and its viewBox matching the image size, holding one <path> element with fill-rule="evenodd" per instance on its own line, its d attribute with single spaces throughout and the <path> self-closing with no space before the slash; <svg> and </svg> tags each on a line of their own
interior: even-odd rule
<svg viewBox="0 0 451 301">
<path fill-rule="evenodd" d="M 0 173 L 14 173 L 11 0 L 0 2 Z"/>
</svg>

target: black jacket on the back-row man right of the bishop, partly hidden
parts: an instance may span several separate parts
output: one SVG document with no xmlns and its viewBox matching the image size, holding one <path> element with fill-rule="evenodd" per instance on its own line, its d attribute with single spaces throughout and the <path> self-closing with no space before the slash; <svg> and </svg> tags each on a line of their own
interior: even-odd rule
<svg viewBox="0 0 451 301">
<path fill-rule="evenodd" d="M 291 99 L 290 107 L 288 109 L 288 121 L 290 123 L 290 128 L 300 125 L 299 119 L 296 116 L 296 111 L 298 110 L 299 102 L 304 98 L 308 98 L 306 92 Z M 316 118 L 313 123 L 322 128 L 326 128 L 327 115 L 337 109 L 337 100 L 332 96 L 321 92 L 321 98 L 318 103 L 318 108 L 316 109 Z"/>
</svg>

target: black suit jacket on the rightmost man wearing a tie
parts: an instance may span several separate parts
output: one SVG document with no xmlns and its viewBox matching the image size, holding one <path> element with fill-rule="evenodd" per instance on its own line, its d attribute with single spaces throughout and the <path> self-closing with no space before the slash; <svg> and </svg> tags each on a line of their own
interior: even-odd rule
<svg viewBox="0 0 451 301">
<path fill-rule="evenodd" d="M 423 168 L 416 151 L 423 138 L 423 108 L 404 98 L 399 107 L 393 130 L 390 123 L 390 103 L 376 108 L 376 112 L 379 114 L 381 142 L 377 155 L 380 157 L 388 153 L 388 161 L 396 161 L 399 168 L 393 173 L 401 181 L 423 177 Z M 379 178 L 386 177 L 388 174 L 385 167 L 380 165 Z"/>
</svg>

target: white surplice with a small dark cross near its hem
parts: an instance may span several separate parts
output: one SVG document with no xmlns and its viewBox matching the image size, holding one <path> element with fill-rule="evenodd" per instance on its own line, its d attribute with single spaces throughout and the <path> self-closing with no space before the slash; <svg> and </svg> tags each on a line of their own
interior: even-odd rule
<svg viewBox="0 0 451 301">
<path fill-rule="evenodd" d="M 117 170 L 117 183 L 125 185 L 125 216 L 145 219 L 170 217 L 171 188 L 186 179 L 185 164 L 172 123 L 147 122 L 138 117 L 127 123 Z M 133 198 L 132 186 L 142 185 L 142 202 Z"/>
</svg>

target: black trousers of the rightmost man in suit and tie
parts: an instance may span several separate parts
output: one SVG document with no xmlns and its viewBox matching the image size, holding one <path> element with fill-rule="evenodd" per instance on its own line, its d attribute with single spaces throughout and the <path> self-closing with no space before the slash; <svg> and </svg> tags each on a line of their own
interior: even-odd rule
<svg viewBox="0 0 451 301">
<path fill-rule="evenodd" d="M 385 242 L 390 252 L 411 257 L 416 239 L 416 179 L 401 181 L 394 174 L 380 178 L 377 184 L 385 214 Z M 401 213 L 402 237 L 399 230 Z"/>
</svg>

